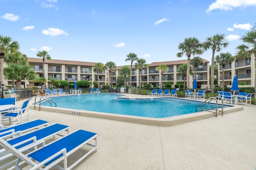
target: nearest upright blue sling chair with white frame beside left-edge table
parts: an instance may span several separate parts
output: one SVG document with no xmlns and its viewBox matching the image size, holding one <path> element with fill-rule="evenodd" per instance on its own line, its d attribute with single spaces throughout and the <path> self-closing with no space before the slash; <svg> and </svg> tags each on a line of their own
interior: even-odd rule
<svg viewBox="0 0 256 170">
<path fill-rule="evenodd" d="M 28 107 L 28 102 L 30 101 L 31 99 L 27 99 L 25 100 L 21 107 L 14 107 L 12 110 L 8 110 L 8 111 L 5 111 L 5 115 L 2 115 L 2 120 L 3 119 L 6 119 L 6 118 L 9 118 L 9 123 L 10 125 L 7 125 L 6 127 L 8 126 L 13 126 L 17 123 L 23 123 L 24 120 L 27 120 L 29 121 L 29 107 Z M 26 111 L 26 112 L 25 112 Z M 23 119 L 23 117 L 27 115 L 27 119 Z M 18 117 L 20 116 L 20 119 L 18 119 Z"/>
</svg>

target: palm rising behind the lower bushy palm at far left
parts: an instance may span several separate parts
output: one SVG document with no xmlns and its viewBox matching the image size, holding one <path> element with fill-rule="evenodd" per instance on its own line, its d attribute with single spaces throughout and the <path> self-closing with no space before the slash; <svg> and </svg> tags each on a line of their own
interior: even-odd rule
<svg viewBox="0 0 256 170">
<path fill-rule="evenodd" d="M 27 55 L 22 54 L 20 52 L 17 52 L 15 54 L 9 54 L 4 57 L 4 62 L 7 64 L 20 64 L 20 65 L 26 65 L 28 64 L 28 58 Z M 12 88 L 15 89 L 15 79 L 12 78 Z"/>
</svg>

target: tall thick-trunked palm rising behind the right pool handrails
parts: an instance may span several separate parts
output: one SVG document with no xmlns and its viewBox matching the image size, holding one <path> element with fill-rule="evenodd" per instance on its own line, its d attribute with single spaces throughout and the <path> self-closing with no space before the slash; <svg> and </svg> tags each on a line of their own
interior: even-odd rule
<svg viewBox="0 0 256 170">
<path fill-rule="evenodd" d="M 225 39 L 224 34 L 216 34 L 206 38 L 204 42 L 204 49 L 212 49 L 212 62 L 214 64 L 215 52 L 220 52 L 222 48 L 228 47 L 228 41 Z M 211 67 L 211 96 L 214 97 L 214 67 Z"/>
</svg>

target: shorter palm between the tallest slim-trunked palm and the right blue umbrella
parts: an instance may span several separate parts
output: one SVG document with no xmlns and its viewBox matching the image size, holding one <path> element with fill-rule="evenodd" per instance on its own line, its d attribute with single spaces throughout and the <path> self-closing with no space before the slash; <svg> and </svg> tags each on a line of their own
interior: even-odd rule
<svg viewBox="0 0 256 170">
<path fill-rule="evenodd" d="M 225 65 L 227 63 L 231 63 L 235 61 L 235 57 L 232 57 L 232 54 L 229 52 L 226 53 L 220 53 L 220 55 L 216 55 L 216 62 L 220 65 L 222 65 L 222 90 L 224 89 L 224 70 Z"/>
</svg>

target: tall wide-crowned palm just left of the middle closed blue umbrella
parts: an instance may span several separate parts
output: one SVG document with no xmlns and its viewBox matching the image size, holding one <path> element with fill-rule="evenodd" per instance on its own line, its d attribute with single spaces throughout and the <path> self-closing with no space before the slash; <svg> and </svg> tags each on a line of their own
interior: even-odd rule
<svg viewBox="0 0 256 170">
<path fill-rule="evenodd" d="M 196 37 L 185 38 L 182 43 L 179 44 L 178 49 L 182 52 L 177 53 L 177 57 L 182 57 L 184 54 L 188 58 L 188 67 L 187 67 L 187 88 L 189 89 L 189 73 L 190 73 L 190 57 L 191 55 L 201 55 L 204 53 L 202 50 L 202 43 Z"/>
</svg>

